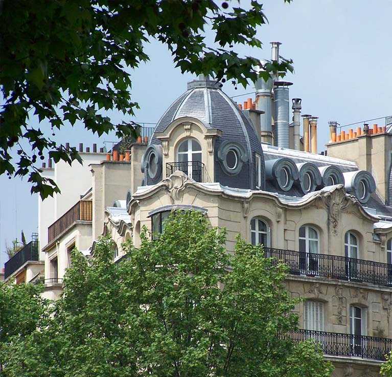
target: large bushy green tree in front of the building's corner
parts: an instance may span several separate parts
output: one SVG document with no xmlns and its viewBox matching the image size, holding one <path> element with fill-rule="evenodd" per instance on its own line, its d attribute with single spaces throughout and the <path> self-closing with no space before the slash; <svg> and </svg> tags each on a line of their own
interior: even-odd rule
<svg viewBox="0 0 392 377">
<path fill-rule="evenodd" d="M 200 213 L 172 215 L 156 241 L 126 243 L 112 262 L 102 238 L 87 261 L 76 250 L 63 297 L 39 330 L 8 348 L 7 377 L 327 377 L 311 341 L 294 343 L 287 268 Z M 228 268 L 228 266 L 230 266 Z"/>
</svg>

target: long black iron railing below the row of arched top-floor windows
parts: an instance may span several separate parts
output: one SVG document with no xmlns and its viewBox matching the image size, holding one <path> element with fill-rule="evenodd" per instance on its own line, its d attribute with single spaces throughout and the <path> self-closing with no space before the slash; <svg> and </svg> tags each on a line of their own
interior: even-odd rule
<svg viewBox="0 0 392 377">
<path fill-rule="evenodd" d="M 290 274 L 392 285 L 392 264 L 339 255 L 264 248 L 265 256 L 288 265 Z"/>
</svg>

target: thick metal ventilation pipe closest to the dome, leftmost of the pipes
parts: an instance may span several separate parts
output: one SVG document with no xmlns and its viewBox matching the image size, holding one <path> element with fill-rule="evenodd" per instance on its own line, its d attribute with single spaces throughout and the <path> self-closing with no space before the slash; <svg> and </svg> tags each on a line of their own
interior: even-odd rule
<svg viewBox="0 0 392 377">
<path fill-rule="evenodd" d="M 263 66 L 267 63 L 266 60 L 260 60 L 261 66 L 258 72 L 263 72 Z M 261 141 L 272 144 L 272 87 L 273 78 L 270 77 L 267 81 L 259 78 L 255 84 L 256 87 L 256 109 L 264 112 L 260 114 L 260 134 Z"/>
</svg>

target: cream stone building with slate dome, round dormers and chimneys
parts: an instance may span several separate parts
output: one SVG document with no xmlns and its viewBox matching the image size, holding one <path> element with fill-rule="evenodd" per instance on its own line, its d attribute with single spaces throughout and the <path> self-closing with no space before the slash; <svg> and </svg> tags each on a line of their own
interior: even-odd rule
<svg viewBox="0 0 392 377">
<path fill-rule="evenodd" d="M 91 256 L 110 234 L 118 260 L 125 240 L 139 245 L 142 226 L 153 236 L 172 209 L 200 210 L 227 229 L 228 252 L 240 233 L 289 265 L 287 289 L 305 299 L 293 337 L 317 339 L 334 376 L 376 376 L 392 349 L 392 133 L 387 122 L 347 133 L 330 122 L 327 152 L 317 154 L 316 117 L 302 116 L 300 135 L 301 99 L 290 123 L 290 85 L 259 80 L 255 100 L 239 105 L 201 76 L 148 144 L 47 168 L 62 194 L 39 203 L 45 296 L 61 294 L 75 246 Z"/>
</svg>

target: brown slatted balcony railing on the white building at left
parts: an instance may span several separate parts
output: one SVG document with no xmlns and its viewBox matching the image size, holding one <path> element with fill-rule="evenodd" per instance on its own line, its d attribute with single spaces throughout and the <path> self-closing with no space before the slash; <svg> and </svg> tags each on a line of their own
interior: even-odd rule
<svg viewBox="0 0 392 377">
<path fill-rule="evenodd" d="M 70 229 L 76 221 L 93 220 L 93 202 L 79 201 L 48 228 L 48 243 Z"/>
</svg>

